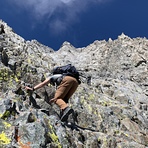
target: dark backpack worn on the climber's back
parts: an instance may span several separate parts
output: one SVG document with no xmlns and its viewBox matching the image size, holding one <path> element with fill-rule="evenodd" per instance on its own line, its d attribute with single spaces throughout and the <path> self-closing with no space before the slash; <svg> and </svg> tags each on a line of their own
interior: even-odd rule
<svg viewBox="0 0 148 148">
<path fill-rule="evenodd" d="M 52 74 L 62 74 L 63 76 L 71 76 L 76 78 L 79 84 L 81 83 L 79 79 L 79 72 L 77 71 L 75 66 L 71 64 L 54 68 Z"/>
</svg>

